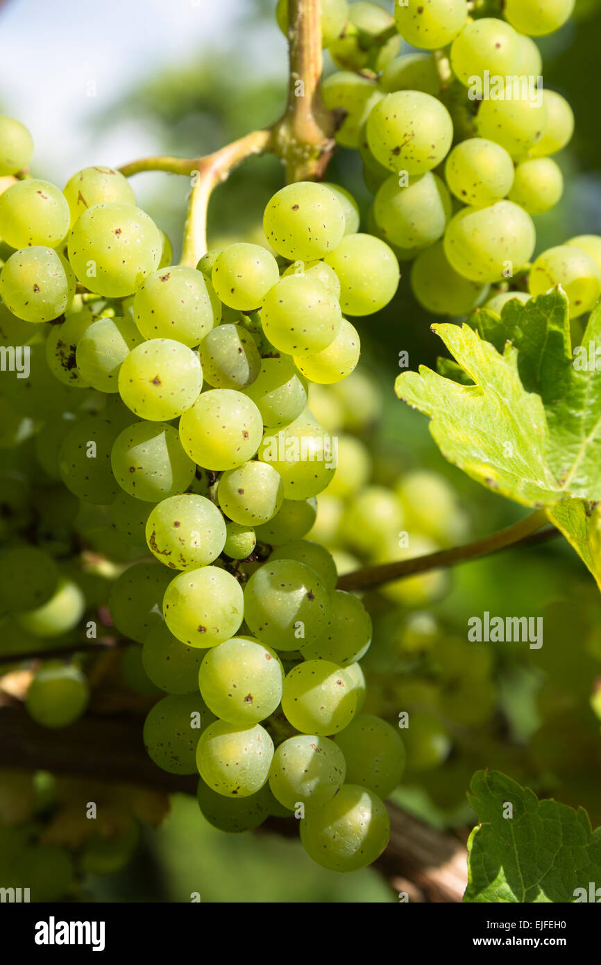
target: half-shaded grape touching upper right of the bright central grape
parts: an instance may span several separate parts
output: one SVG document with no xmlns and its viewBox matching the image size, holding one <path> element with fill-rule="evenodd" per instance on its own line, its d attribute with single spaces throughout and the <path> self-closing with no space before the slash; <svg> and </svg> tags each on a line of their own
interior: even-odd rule
<svg viewBox="0 0 601 965">
<path fill-rule="evenodd" d="M 260 361 L 257 378 L 244 394 L 253 400 L 265 426 L 280 428 L 293 422 L 307 406 L 307 379 L 289 355 Z"/>
</svg>

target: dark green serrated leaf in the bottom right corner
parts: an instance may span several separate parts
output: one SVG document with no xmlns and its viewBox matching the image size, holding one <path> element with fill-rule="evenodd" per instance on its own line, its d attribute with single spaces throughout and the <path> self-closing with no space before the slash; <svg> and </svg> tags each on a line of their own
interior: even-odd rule
<svg viewBox="0 0 601 965">
<path fill-rule="evenodd" d="M 601 888 L 601 828 L 592 831 L 582 808 L 538 801 L 497 771 L 477 771 L 468 799 L 479 825 L 468 841 L 464 901 L 573 903 L 590 900 L 590 883 Z"/>
</svg>

